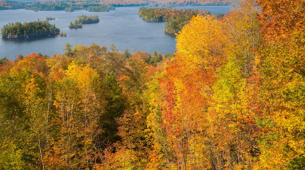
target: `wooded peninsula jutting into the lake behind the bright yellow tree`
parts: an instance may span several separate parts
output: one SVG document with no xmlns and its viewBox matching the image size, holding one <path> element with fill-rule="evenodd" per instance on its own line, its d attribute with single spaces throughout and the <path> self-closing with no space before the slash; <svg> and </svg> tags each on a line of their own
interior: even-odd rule
<svg viewBox="0 0 305 170">
<path fill-rule="evenodd" d="M 138 10 L 140 17 L 146 21 L 163 21 L 165 32 L 173 34 L 181 31 L 182 27 L 188 23 L 192 16 L 210 14 L 209 11 L 199 9 L 171 9 L 171 8 L 145 8 Z"/>
</svg>

